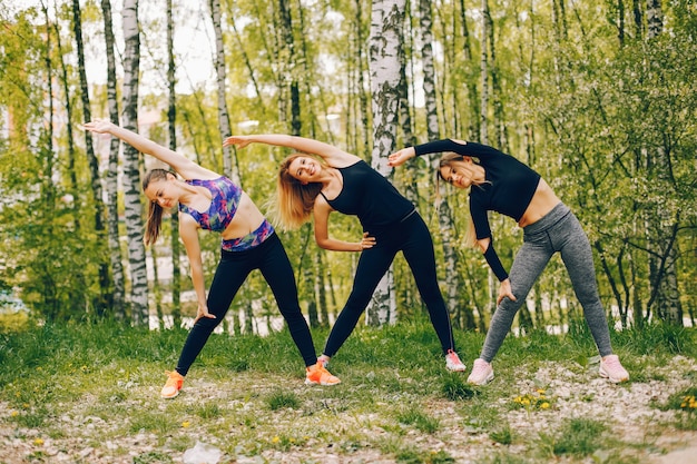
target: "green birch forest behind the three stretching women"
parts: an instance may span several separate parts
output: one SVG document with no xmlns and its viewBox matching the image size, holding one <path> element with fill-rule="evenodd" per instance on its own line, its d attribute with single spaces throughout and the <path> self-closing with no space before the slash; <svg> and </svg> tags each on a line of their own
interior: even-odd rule
<svg viewBox="0 0 697 464">
<path fill-rule="evenodd" d="M 193 18 L 206 50 L 181 40 Z M 176 215 L 156 246 L 143 245 L 140 178 L 153 160 L 78 129 L 109 118 L 228 175 L 259 205 L 273 203 L 287 152 L 223 149 L 227 135 L 301 135 L 363 157 L 418 205 L 453 323 L 481 332 L 498 283 L 481 254 L 462 246 L 467 195 L 436 188 L 435 159 L 392 171 L 386 156 L 443 137 L 494 146 L 538 170 L 579 216 L 616 326 L 694 326 L 691 0 L 3 2 L 0 23 L 6 310 L 137 326 L 179 325 L 195 313 Z M 187 62 L 207 62 L 209 78 L 193 81 Z M 335 216 L 331 234 L 357 240 L 357 220 Z M 498 215 L 492 221 L 509 267 L 521 230 Z M 327 326 L 357 254 L 318 249 L 312 225 L 279 234 L 311 325 Z M 210 277 L 219 243 L 213 234 L 202 240 Z M 423 312 L 397 259 L 366 320 Z M 240 316 L 226 322 L 232 333 L 261 332 L 259 319 L 276 316 L 261 276 L 230 313 Z M 556 258 L 518 326 L 563 328 L 580 315 Z"/>
</svg>

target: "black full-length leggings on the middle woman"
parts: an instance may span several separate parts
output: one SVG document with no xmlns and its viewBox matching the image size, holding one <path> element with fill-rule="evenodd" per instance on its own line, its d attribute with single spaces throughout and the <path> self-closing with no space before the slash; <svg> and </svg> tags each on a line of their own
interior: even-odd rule
<svg viewBox="0 0 697 464">
<path fill-rule="evenodd" d="M 421 298 L 429 308 L 431 324 L 441 342 L 443 353 L 448 353 L 449 349 L 454 351 L 450 315 L 438 286 L 433 240 L 421 216 L 413 213 L 401 223 L 365 231 L 375 237 L 375 246 L 361 253 L 353 278 L 353 289 L 332 327 L 324 354 L 334 356 L 346 342 L 359 323 L 361 314 L 367 307 L 380 279 L 400 250 L 414 275 Z"/>
</svg>

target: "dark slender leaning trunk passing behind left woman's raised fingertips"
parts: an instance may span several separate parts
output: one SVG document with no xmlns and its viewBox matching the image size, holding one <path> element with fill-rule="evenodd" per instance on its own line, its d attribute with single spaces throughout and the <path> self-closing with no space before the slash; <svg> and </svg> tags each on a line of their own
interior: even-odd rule
<svg viewBox="0 0 697 464">
<path fill-rule="evenodd" d="M 82 43 L 82 20 L 80 17 L 80 2 L 79 0 L 72 0 L 72 29 L 75 32 L 75 39 L 77 42 L 78 53 L 78 72 L 80 76 L 80 97 L 82 99 L 82 117 L 85 122 L 92 119 L 90 105 L 89 105 L 89 88 L 87 85 L 87 72 L 85 71 L 85 47 Z M 104 200 L 101 196 L 101 179 L 99 178 L 99 160 L 95 155 L 95 148 L 92 147 L 92 135 L 85 131 L 85 148 L 87 155 L 87 161 L 89 165 L 92 205 L 95 208 L 95 234 L 97 239 L 102 241 L 105 239 L 105 225 L 104 225 Z M 95 310 L 98 316 L 101 316 L 109 306 L 109 266 L 106 261 L 106 257 L 100 255 L 99 257 L 99 300 L 95 302 Z"/>
</svg>

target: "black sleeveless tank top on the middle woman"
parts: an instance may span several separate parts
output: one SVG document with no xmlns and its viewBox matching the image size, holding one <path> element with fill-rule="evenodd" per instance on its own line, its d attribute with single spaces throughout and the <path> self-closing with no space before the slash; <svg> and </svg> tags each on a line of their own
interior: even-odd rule
<svg viewBox="0 0 697 464">
<path fill-rule="evenodd" d="M 335 210 L 357 216 L 364 231 L 399 223 L 414 210 L 414 205 L 367 162 L 361 160 L 338 170 L 342 190 L 332 200 L 322 196 Z"/>
</svg>

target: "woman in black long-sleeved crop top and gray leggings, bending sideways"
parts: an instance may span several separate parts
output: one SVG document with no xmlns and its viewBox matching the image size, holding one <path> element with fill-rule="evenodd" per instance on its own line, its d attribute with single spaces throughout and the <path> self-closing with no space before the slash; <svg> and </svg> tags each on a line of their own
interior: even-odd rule
<svg viewBox="0 0 697 464">
<path fill-rule="evenodd" d="M 484 385 L 493 379 L 491 361 L 526 302 L 532 285 L 557 251 L 561 254 L 573 290 L 601 356 L 600 375 L 624 382 L 629 374 L 612 354 L 605 309 L 598 295 L 592 251 L 578 219 L 538 172 L 492 147 L 444 139 L 404 148 L 390 155 L 400 166 L 414 156 L 443 152 L 439 174 L 455 188 L 470 189 L 470 215 L 465 243 L 478 246 L 501 283 L 497 310 L 491 319 L 479 359 L 468 382 Z M 493 248 L 489 211 L 512 217 L 523 228 L 523 246 L 516 255 L 510 276 Z"/>
</svg>

